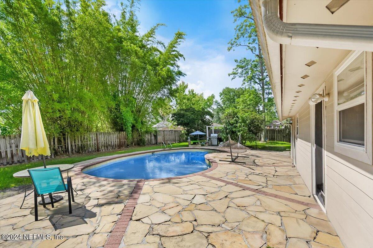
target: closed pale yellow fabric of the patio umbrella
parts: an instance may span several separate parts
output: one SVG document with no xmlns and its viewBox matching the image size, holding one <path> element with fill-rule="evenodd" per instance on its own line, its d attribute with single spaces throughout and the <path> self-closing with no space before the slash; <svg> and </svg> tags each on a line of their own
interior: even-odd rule
<svg viewBox="0 0 373 248">
<path fill-rule="evenodd" d="M 49 144 L 41 120 L 38 99 L 31 90 L 22 97 L 21 149 L 27 156 L 50 156 Z"/>
</svg>

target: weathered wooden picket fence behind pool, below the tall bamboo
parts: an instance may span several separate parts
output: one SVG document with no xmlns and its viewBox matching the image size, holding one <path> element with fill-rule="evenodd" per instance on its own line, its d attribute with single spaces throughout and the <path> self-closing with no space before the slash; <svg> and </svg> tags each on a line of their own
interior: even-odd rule
<svg viewBox="0 0 373 248">
<path fill-rule="evenodd" d="M 162 142 L 177 143 L 185 141 L 186 136 L 179 130 L 157 130 L 153 133 L 132 133 L 131 139 L 126 132 L 90 132 L 85 134 L 48 135 L 51 155 L 54 158 L 75 153 L 103 152 L 128 146 L 154 145 Z M 0 165 L 11 165 L 41 160 L 41 156 L 28 157 L 21 150 L 21 134 L 0 136 Z"/>
</svg>

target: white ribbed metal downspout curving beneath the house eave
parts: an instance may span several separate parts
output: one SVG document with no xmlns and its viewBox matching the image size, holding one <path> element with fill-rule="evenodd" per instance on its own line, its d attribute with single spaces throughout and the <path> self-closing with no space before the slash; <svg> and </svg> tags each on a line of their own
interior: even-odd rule
<svg viewBox="0 0 373 248">
<path fill-rule="evenodd" d="M 373 26 L 286 23 L 277 0 L 263 0 L 261 7 L 264 29 L 279 44 L 373 51 Z"/>
</svg>

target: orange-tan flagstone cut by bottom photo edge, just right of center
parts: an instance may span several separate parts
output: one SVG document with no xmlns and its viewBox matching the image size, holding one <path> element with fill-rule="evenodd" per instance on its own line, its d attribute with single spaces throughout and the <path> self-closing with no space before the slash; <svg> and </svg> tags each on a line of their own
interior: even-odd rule
<svg viewBox="0 0 373 248">
<path fill-rule="evenodd" d="M 211 233 L 209 235 L 209 243 L 216 248 L 247 248 L 242 235 L 231 231 Z"/>
</svg>

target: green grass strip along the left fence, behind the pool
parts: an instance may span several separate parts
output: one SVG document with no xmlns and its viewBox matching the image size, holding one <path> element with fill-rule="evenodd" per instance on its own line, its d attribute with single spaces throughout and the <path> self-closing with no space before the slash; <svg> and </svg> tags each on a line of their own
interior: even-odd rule
<svg viewBox="0 0 373 248">
<path fill-rule="evenodd" d="M 188 142 L 181 142 L 181 143 L 174 143 L 172 147 L 186 147 L 188 146 Z M 121 151 L 115 152 L 97 152 L 97 153 L 90 153 L 90 154 L 76 154 L 71 157 L 66 158 L 54 158 L 54 159 L 46 159 L 47 165 L 58 165 L 62 163 L 77 163 L 88 159 L 93 159 L 101 156 L 109 156 L 109 155 L 116 155 L 122 153 L 129 153 L 129 152 L 139 152 L 139 151 L 146 151 L 146 150 L 153 150 L 159 149 L 160 145 L 156 146 L 141 146 L 141 147 L 133 147 Z M 24 169 L 30 169 L 38 166 L 43 166 L 43 161 L 38 162 L 31 162 L 31 163 L 21 163 L 16 165 L 8 165 L 0 167 L 0 190 L 4 190 L 6 188 L 12 188 L 19 185 L 23 185 L 22 178 L 14 178 L 13 174 L 18 171 L 22 171 Z M 25 178 L 27 184 L 31 184 L 31 179 Z"/>
</svg>

